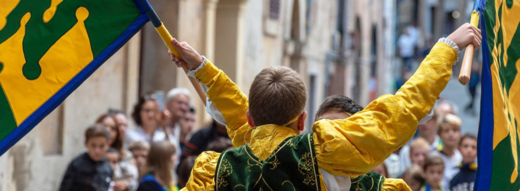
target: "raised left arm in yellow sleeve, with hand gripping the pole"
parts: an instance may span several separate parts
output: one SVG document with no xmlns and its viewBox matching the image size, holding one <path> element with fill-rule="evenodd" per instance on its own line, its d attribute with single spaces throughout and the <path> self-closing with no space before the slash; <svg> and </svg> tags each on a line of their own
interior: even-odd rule
<svg viewBox="0 0 520 191">
<path fill-rule="evenodd" d="M 179 43 L 174 38 L 172 44 L 182 57 L 181 59 L 172 56 L 172 60 L 177 66 L 186 63 L 190 73 L 195 73 L 194 76 L 209 87 L 206 91 L 207 97 L 224 116 L 233 146 L 243 145 L 244 134 L 250 129 L 245 116 L 249 108 L 248 98 L 222 70 L 210 61 L 204 62 L 203 57 L 187 43 Z"/>
</svg>

